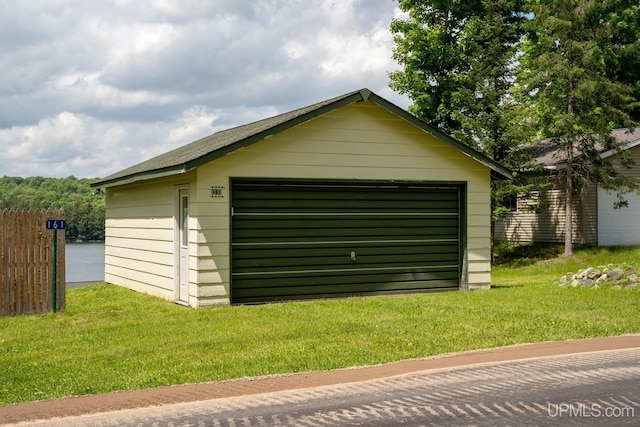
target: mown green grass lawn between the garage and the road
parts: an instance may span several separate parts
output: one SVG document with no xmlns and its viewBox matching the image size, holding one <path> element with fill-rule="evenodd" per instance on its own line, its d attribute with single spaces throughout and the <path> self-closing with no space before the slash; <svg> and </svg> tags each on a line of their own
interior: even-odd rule
<svg viewBox="0 0 640 427">
<path fill-rule="evenodd" d="M 588 266 L 640 270 L 640 248 L 545 251 L 502 248 L 479 292 L 193 310 L 111 285 L 72 290 L 64 312 L 0 318 L 0 405 L 640 333 L 640 290 L 557 284 Z"/>
</svg>

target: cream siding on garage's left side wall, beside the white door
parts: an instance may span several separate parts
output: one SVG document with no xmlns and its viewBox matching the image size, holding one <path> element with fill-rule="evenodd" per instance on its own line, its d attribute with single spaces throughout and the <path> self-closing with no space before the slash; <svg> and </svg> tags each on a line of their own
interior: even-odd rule
<svg viewBox="0 0 640 427">
<path fill-rule="evenodd" d="M 175 185 L 189 177 L 107 188 L 105 280 L 175 298 Z M 195 221 L 190 221 L 194 227 Z M 190 233 L 190 240 L 195 233 Z M 195 250 L 194 250 L 195 252 Z M 190 262 L 195 269 L 197 262 Z M 192 287 L 190 287 L 192 288 Z M 193 293 L 195 298 L 196 292 Z"/>
</svg>

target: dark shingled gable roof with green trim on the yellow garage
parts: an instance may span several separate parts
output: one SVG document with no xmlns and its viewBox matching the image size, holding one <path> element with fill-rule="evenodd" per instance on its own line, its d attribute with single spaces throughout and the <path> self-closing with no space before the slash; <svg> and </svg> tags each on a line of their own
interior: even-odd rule
<svg viewBox="0 0 640 427">
<path fill-rule="evenodd" d="M 190 144 L 178 147 L 167 153 L 123 169 L 105 178 L 98 179 L 93 182 L 91 186 L 94 188 L 104 188 L 185 173 L 197 168 L 198 166 L 202 166 L 241 148 L 247 147 L 255 142 L 327 114 L 340 107 L 363 101 L 373 102 L 390 113 L 420 128 L 424 132 L 445 142 L 463 154 L 473 158 L 477 162 L 485 165 L 491 170 L 491 174 L 494 178 L 511 178 L 511 171 L 484 154 L 437 130 L 406 110 L 403 110 L 391 102 L 379 97 L 370 90 L 361 89 L 310 105 L 308 107 L 290 111 L 288 113 L 214 133 Z"/>
</svg>

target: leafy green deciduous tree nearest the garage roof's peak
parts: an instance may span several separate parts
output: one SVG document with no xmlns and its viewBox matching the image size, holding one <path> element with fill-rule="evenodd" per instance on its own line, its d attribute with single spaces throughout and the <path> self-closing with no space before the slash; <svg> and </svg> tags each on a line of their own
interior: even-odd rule
<svg viewBox="0 0 640 427">
<path fill-rule="evenodd" d="M 481 3 L 399 0 L 407 16 L 391 22 L 394 58 L 403 65 L 390 74 L 391 87 L 413 100 L 412 113 L 452 135 L 462 128 L 454 112 L 471 68 L 462 45 L 465 25 L 479 14 Z"/>
</svg>

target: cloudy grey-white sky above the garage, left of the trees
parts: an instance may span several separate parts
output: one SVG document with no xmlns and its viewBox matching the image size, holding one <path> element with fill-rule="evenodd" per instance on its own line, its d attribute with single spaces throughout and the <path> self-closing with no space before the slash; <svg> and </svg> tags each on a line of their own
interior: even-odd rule
<svg viewBox="0 0 640 427">
<path fill-rule="evenodd" d="M 103 177 L 397 69 L 394 0 L 0 0 L 0 176 Z"/>
</svg>

